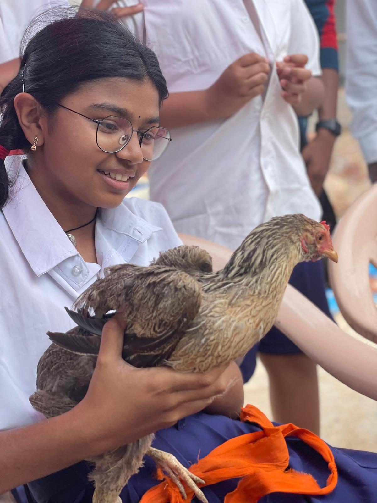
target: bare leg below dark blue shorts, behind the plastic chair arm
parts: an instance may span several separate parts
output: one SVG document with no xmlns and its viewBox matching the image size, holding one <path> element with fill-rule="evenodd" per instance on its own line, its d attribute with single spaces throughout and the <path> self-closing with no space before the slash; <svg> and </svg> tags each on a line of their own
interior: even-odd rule
<svg viewBox="0 0 377 503">
<path fill-rule="evenodd" d="M 274 421 L 293 423 L 319 435 L 317 366 L 306 355 L 258 353 L 269 378 Z"/>
</svg>

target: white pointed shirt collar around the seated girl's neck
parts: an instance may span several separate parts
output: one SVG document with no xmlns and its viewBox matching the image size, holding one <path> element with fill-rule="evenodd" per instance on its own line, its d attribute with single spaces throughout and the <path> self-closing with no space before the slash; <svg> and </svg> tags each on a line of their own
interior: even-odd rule
<svg viewBox="0 0 377 503">
<path fill-rule="evenodd" d="M 18 172 L 10 200 L 3 212 L 30 267 L 37 276 L 41 276 L 65 259 L 79 256 L 79 253 L 34 187 L 22 165 L 22 159 L 21 156 L 13 158 L 11 169 L 16 173 L 14 166 L 18 162 Z M 97 242 L 97 230 L 102 242 Z M 131 257 L 123 257 L 123 250 L 128 250 L 127 255 L 130 255 L 131 250 L 135 253 L 140 243 L 146 241 L 152 232 L 159 230 L 162 230 L 161 227 L 149 224 L 125 204 L 112 210 L 101 209 L 96 224 L 97 253 L 100 252 L 104 257 L 110 248 L 119 249 L 119 259 L 128 262 Z M 127 238 L 134 242 L 134 246 L 124 246 Z M 108 249 L 104 249 L 101 244 Z"/>
</svg>

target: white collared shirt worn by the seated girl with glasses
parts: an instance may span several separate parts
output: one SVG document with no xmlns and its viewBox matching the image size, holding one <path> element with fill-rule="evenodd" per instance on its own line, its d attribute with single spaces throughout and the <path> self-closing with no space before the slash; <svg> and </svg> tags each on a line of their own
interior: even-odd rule
<svg viewBox="0 0 377 503">
<path fill-rule="evenodd" d="M 161 205 L 130 198 L 116 209 L 99 211 L 96 253 L 101 265 L 86 263 L 22 165 L 14 191 L 0 212 L 0 430 L 39 417 L 29 396 L 35 391 L 38 360 L 50 345 L 47 330 L 74 326 L 64 306 L 103 277 L 105 267 L 147 266 L 160 251 L 181 244 Z"/>
</svg>

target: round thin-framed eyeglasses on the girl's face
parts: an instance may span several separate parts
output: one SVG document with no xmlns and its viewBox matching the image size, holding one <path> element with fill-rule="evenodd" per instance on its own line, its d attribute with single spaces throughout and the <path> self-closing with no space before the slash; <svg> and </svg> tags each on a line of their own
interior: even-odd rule
<svg viewBox="0 0 377 503">
<path fill-rule="evenodd" d="M 91 119 L 64 105 L 60 105 L 60 103 L 58 103 L 58 105 L 61 108 L 65 108 L 70 112 L 95 122 L 97 124 L 97 145 L 102 151 L 109 154 L 122 150 L 130 141 L 134 132 L 138 135 L 143 159 L 148 161 L 158 159 L 171 141 L 169 131 L 163 127 L 152 126 L 146 131 L 139 131 L 138 129 L 133 129 L 128 119 L 122 119 L 121 117 L 113 115 L 108 115 L 104 119 Z"/>
</svg>

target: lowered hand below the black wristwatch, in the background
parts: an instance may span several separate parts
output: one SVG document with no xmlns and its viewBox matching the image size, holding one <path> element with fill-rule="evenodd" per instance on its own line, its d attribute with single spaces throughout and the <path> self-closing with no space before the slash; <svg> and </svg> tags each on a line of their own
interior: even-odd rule
<svg viewBox="0 0 377 503">
<path fill-rule="evenodd" d="M 309 180 L 317 196 L 320 196 L 323 189 L 335 139 L 330 131 L 321 128 L 302 151 Z"/>
</svg>

